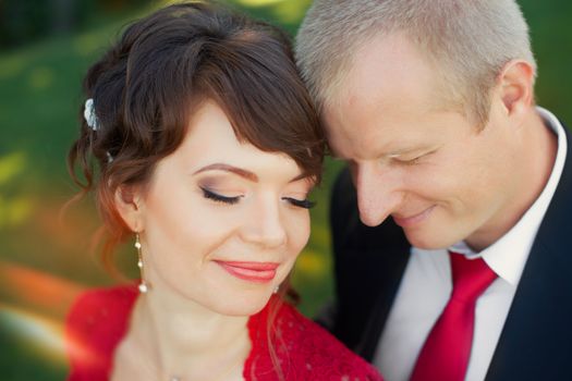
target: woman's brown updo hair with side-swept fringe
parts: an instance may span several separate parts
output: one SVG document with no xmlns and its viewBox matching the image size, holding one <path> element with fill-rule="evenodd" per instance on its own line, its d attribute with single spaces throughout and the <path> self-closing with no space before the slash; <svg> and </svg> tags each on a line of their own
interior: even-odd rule
<svg viewBox="0 0 572 381">
<path fill-rule="evenodd" d="M 97 193 L 107 260 L 131 235 L 114 208 L 117 188 L 149 181 L 157 162 L 182 143 L 202 100 L 226 111 L 241 142 L 284 152 L 320 180 L 324 139 L 289 38 L 220 5 L 180 3 L 133 23 L 88 70 L 84 90 L 94 99 L 98 128 L 82 118 L 69 167 L 83 194 Z"/>
</svg>

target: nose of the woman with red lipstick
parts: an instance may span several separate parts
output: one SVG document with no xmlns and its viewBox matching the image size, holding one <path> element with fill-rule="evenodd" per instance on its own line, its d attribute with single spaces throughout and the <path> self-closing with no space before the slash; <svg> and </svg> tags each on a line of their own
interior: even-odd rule
<svg viewBox="0 0 572 381">
<path fill-rule="evenodd" d="M 275 248 L 287 241 L 287 232 L 280 212 L 280 201 L 260 200 L 253 205 L 242 229 L 245 242 L 265 248 Z"/>
</svg>

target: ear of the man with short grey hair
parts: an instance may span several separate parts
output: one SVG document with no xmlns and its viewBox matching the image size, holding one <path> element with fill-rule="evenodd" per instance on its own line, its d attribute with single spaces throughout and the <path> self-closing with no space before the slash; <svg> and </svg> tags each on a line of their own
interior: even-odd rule
<svg viewBox="0 0 572 381">
<path fill-rule="evenodd" d="M 512 60 L 499 77 L 499 91 L 509 118 L 522 119 L 534 102 L 534 67 L 524 60 Z"/>
</svg>

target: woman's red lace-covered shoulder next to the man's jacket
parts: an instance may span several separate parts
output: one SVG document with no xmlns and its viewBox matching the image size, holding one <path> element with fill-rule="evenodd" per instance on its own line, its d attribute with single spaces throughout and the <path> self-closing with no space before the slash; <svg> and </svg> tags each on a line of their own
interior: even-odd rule
<svg viewBox="0 0 572 381">
<path fill-rule="evenodd" d="M 287 380 L 382 380 L 372 365 L 287 303 L 270 330 Z"/>
</svg>

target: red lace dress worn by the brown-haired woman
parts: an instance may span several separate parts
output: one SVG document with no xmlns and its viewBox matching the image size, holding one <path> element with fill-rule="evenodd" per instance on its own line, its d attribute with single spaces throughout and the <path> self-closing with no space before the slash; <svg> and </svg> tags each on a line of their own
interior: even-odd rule
<svg viewBox="0 0 572 381">
<path fill-rule="evenodd" d="M 127 331 L 137 295 L 136 287 L 115 287 L 89 291 L 78 298 L 65 324 L 69 381 L 109 379 L 114 349 Z M 279 379 L 267 339 L 270 304 L 248 320 L 252 351 L 244 364 L 245 380 Z M 271 334 L 285 380 L 382 380 L 369 364 L 285 303 L 277 312 Z"/>
</svg>

